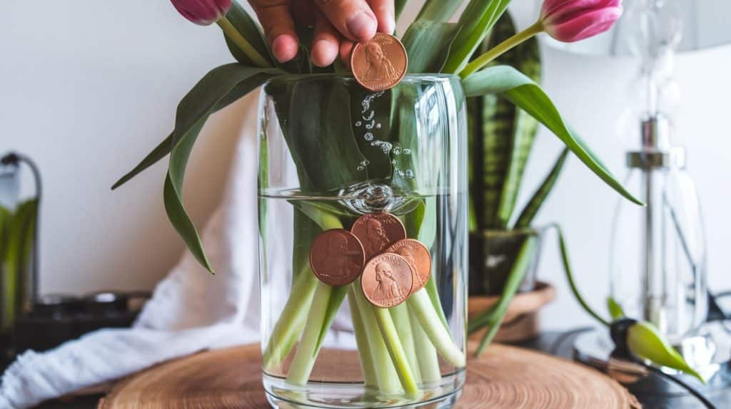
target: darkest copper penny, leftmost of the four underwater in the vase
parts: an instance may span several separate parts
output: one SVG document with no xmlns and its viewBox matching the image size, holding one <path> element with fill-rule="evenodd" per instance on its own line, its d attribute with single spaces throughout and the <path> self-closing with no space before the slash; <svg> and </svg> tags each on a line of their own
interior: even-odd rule
<svg viewBox="0 0 731 409">
<path fill-rule="evenodd" d="M 320 233 L 310 248 L 312 271 L 320 281 L 331 286 L 344 286 L 355 281 L 365 262 L 363 245 L 348 230 L 333 229 Z"/>
</svg>

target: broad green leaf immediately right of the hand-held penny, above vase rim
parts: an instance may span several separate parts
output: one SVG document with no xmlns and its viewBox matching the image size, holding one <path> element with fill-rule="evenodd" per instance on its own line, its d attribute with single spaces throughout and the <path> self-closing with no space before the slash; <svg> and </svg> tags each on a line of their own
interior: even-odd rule
<svg viewBox="0 0 731 409">
<path fill-rule="evenodd" d="M 441 72 L 459 30 L 455 23 L 414 21 L 402 39 L 409 55 L 409 72 Z"/>
</svg>

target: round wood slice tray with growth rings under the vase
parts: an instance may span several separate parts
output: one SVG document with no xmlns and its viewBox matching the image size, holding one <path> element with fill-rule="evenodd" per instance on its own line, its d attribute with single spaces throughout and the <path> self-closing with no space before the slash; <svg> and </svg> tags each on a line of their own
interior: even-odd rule
<svg viewBox="0 0 731 409">
<path fill-rule="evenodd" d="M 474 348 L 474 345 L 471 345 Z M 118 383 L 99 409 L 269 408 L 258 345 L 202 352 Z M 469 360 L 456 408 L 639 408 L 596 370 L 523 348 L 495 344 Z"/>
</svg>

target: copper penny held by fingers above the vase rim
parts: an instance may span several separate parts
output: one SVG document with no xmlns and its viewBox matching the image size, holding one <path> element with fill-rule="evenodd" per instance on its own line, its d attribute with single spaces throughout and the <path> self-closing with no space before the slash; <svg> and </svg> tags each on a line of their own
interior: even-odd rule
<svg viewBox="0 0 731 409">
<path fill-rule="evenodd" d="M 367 42 L 359 42 L 350 55 L 355 80 L 371 91 L 387 90 L 406 74 L 409 59 L 404 44 L 390 34 L 376 33 Z"/>
</svg>

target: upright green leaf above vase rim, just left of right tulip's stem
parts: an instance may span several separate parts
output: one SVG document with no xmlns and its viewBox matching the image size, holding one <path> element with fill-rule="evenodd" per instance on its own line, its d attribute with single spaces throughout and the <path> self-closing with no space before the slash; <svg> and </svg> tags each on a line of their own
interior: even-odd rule
<svg viewBox="0 0 731 409">
<path fill-rule="evenodd" d="M 508 3 L 510 0 L 470 0 L 458 21 L 461 30 L 450 50 L 444 72 L 457 74 L 467 65 L 474 50 L 480 47 Z"/>
</svg>

